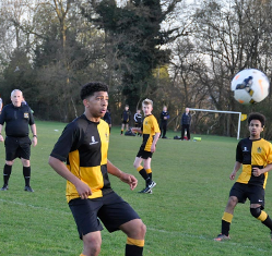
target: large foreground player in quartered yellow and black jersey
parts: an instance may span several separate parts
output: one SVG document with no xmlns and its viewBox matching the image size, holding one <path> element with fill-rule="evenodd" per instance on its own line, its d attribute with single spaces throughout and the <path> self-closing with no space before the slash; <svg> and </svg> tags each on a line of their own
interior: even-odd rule
<svg viewBox="0 0 272 256">
<path fill-rule="evenodd" d="M 108 86 L 88 83 L 81 89 L 81 99 L 85 112 L 66 126 L 49 157 L 52 169 L 67 180 L 67 200 L 84 245 L 81 256 L 99 254 L 100 221 L 109 232 L 121 230 L 127 234 L 127 256 L 142 256 L 146 228 L 113 191 L 108 179 L 110 173 L 131 190 L 138 182 L 107 159 L 109 127 L 100 118 L 108 105 Z"/>
</svg>

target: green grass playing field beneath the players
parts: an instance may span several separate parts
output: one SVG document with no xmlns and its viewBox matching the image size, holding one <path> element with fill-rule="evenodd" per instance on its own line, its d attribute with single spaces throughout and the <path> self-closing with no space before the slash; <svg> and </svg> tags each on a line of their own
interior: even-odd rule
<svg viewBox="0 0 272 256">
<path fill-rule="evenodd" d="M 22 164 L 15 161 L 10 190 L 0 192 L 0 255 L 76 256 L 82 252 L 75 223 L 66 203 L 66 181 L 48 166 L 48 156 L 64 124 L 37 122 L 38 145 L 32 148 L 32 187 L 26 193 Z M 168 137 L 174 137 L 168 132 Z M 198 135 L 200 136 L 200 135 Z M 129 186 L 110 176 L 115 191 L 139 212 L 147 227 L 144 255 L 272 255 L 269 230 L 238 205 L 227 242 L 214 242 L 233 182 L 236 138 L 201 135 L 201 142 L 159 139 L 152 169 L 157 186 L 152 195 L 137 193 L 144 182 L 132 163 L 140 137 L 120 136 L 114 127 L 109 156 L 114 164 L 139 179 Z M 0 163 L 4 146 L 0 144 Z M 2 185 L 2 174 L 0 175 Z M 267 187 L 265 209 L 272 215 L 272 178 Z M 102 232 L 103 256 L 123 255 L 126 235 Z"/>
</svg>

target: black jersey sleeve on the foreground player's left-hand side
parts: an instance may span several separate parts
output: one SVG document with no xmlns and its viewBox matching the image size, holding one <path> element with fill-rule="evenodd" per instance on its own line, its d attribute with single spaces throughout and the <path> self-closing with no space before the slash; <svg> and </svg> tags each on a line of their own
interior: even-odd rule
<svg viewBox="0 0 272 256">
<path fill-rule="evenodd" d="M 79 141 L 80 131 L 78 125 L 69 123 L 56 143 L 50 156 L 60 161 L 66 161 L 69 153 L 75 150 L 75 145 L 79 144 Z"/>
</svg>

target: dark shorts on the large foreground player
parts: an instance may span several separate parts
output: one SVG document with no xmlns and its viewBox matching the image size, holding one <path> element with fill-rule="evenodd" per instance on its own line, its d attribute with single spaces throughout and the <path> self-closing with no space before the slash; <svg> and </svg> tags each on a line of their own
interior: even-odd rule
<svg viewBox="0 0 272 256">
<path fill-rule="evenodd" d="M 121 224 L 140 219 L 133 208 L 115 192 L 94 199 L 72 199 L 69 207 L 80 239 L 87 233 L 103 230 L 100 221 L 109 232 L 114 232 L 119 230 Z"/>
</svg>

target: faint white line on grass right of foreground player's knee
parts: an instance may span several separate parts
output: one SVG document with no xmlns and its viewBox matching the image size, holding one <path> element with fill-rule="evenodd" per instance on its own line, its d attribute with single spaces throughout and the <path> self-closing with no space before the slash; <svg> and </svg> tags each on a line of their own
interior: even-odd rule
<svg viewBox="0 0 272 256">
<path fill-rule="evenodd" d="M 252 246 L 252 245 L 243 245 L 243 244 L 239 244 L 239 243 L 235 243 L 235 242 L 230 242 L 230 241 L 227 241 L 227 242 L 217 242 L 217 241 L 213 241 L 211 240 L 210 237 L 205 237 L 203 235 L 193 235 L 193 234 L 187 234 L 187 233 L 182 233 L 182 232 L 179 232 L 179 231 L 167 231 L 167 230 L 159 230 L 159 229 L 155 229 L 155 228 L 149 228 L 147 227 L 147 231 L 155 231 L 155 232 L 161 232 L 161 233 L 168 233 L 168 234 L 173 234 L 173 235 L 180 235 L 180 236 L 184 236 L 184 237 L 191 237 L 191 239 L 200 239 L 200 240 L 205 240 L 205 241 L 209 241 L 209 242 L 214 242 L 215 244 L 224 244 L 224 245 L 235 245 L 235 246 L 238 246 L 240 248 L 250 248 L 250 249 L 255 249 L 255 251 L 258 251 L 258 252 L 263 252 L 263 253 L 270 253 L 271 249 L 263 249 L 263 248 L 259 248 L 259 247 L 256 247 L 256 246 Z M 270 240 L 268 239 L 269 243 Z"/>
</svg>

